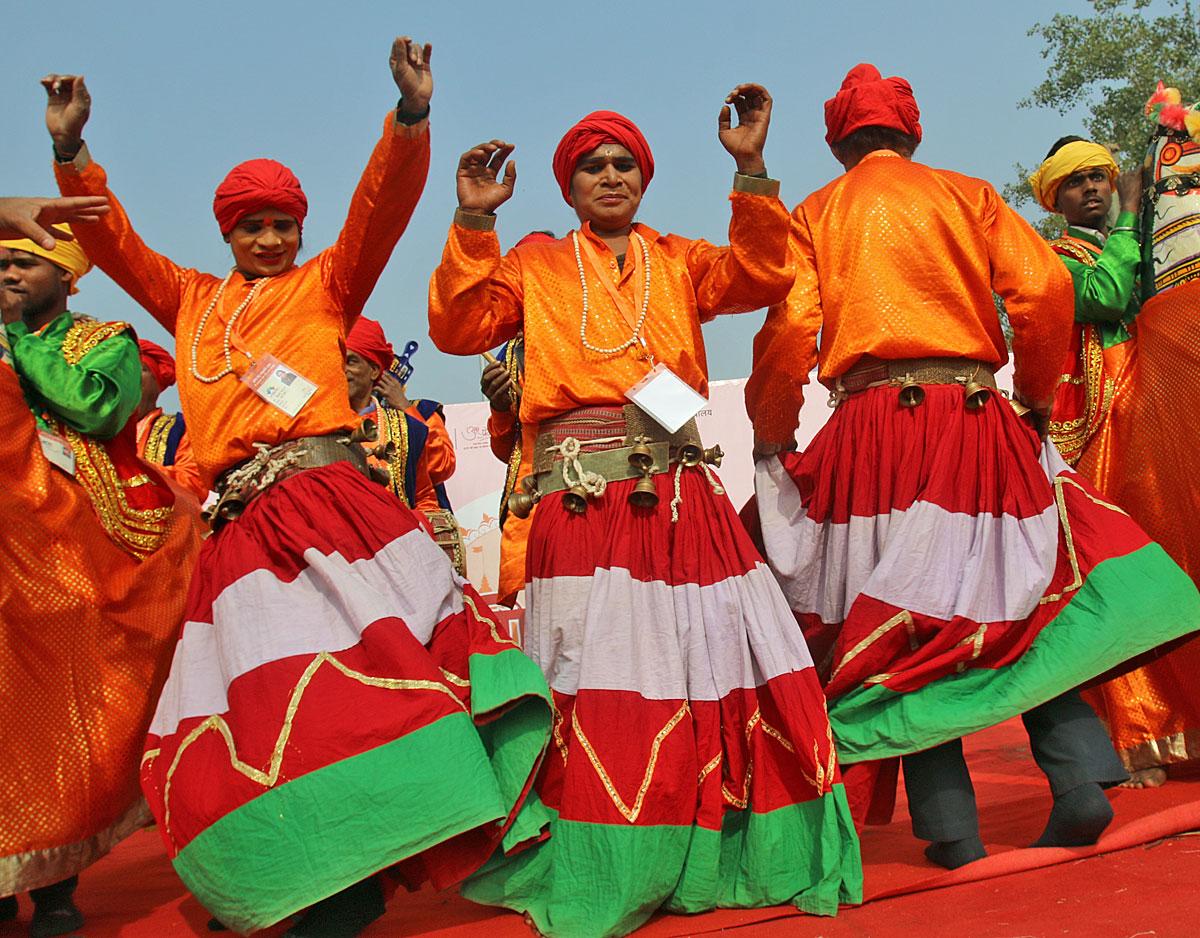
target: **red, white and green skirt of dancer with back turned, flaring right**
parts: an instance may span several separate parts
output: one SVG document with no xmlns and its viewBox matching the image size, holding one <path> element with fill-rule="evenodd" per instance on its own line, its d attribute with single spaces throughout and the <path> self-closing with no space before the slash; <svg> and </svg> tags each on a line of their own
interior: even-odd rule
<svg viewBox="0 0 1200 938">
<path fill-rule="evenodd" d="M 757 468 L 772 570 L 846 763 L 998 723 L 1200 627 L 1192 581 L 1009 404 L 842 403 Z"/>
</svg>

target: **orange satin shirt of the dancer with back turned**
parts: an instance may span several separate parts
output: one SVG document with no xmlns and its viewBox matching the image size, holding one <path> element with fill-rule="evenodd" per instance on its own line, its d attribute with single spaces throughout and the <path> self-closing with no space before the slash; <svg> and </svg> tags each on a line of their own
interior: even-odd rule
<svg viewBox="0 0 1200 938">
<path fill-rule="evenodd" d="M 1049 405 L 1074 291 L 1062 261 L 983 180 L 869 154 L 792 215 L 796 284 L 755 337 L 746 410 L 762 443 L 792 439 L 818 361 L 833 385 L 863 355 L 1008 360 L 992 299 L 1013 325 L 1016 391 Z"/>
</svg>

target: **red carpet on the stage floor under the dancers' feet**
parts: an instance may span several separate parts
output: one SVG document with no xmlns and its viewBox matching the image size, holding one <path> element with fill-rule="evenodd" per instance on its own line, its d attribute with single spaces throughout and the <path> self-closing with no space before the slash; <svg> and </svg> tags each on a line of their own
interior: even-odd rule
<svg viewBox="0 0 1200 938">
<path fill-rule="evenodd" d="M 737 936 L 964 936 L 970 938 L 1190 938 L 1200 934 L 1200 777 L 1148 790 L 1111 793 L 1116 820 L 1084 849 L 1018 849 L 1037 838 L 1050 794 L 1033 765 L 1020 721 L 967 742 L 988 859 L 938 871 L 908 832 L 904 802 L 896 820 L 863 835 L 866 902 L 836 919 L 794 909 L 664 915 L 648 938 L 734 932 Z M 187 895 L 155 831 L 142 831 L 80 878 L 78 903 L 88 938 L 208 936 L 208 913 Z M 24 936 L 29 904 L 0 938 Z M 269 934 L 277 934 L 282 927 Z M 266 933 L 264 933 L 266 934 Z M 474 906 L 452 892 L 398 894 L 388 915 L 365 933 L 528 938 L 520 915 Z"/>
</svg>

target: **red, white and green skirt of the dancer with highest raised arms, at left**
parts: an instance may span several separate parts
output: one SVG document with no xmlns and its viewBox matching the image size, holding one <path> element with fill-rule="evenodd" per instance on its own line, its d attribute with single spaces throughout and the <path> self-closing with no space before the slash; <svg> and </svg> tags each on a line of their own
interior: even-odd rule
<svg viewBox="0 0 1200 938">
<path fill-rule="evenodd" d="M 395 864 L 450 885 L 536 836 L 512 820 L 550 714 L 413 512 L 337 463 L 204 545 L 143 789 L 188 889 L 248 932 Z"/>
</svg>

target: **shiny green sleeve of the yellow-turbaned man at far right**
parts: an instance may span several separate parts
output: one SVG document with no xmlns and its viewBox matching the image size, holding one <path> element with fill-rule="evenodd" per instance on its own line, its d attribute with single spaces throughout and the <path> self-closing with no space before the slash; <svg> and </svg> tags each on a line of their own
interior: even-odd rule
<svg viewBox="0 0 1200 938">
<path fill-rule="evenodd" d="M 1121 212 L 1116 228 L 1134 228 L 1138 216 Z M 1067 236 L 1102 248 L 1096 265 L 1063 257 L 1075 284 L 1075 321 L 1097 326 L 1104 348 L 1126 342 L 1128 325 L 1140 309 L 1138 300 L 1138 265 L 1141 246 L 1133 232 L 1114 232 L 1105 240 L 1086 228 L 1067 228 Z"/>
</svg>

